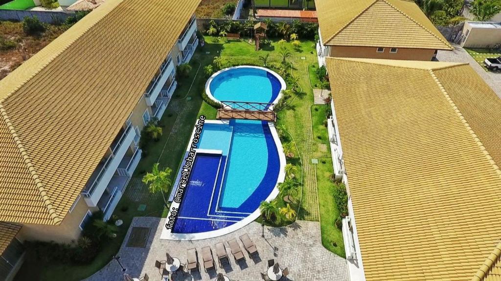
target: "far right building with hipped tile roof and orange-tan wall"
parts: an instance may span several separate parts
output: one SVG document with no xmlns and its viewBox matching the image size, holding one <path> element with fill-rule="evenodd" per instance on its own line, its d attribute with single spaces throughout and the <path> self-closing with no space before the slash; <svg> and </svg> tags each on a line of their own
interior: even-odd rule
<svg viewBox="0 0 501 281">
<path fill-rule="evenodd" d="M 326 56 L 431 60 L 452 46 L 411 0 L 316 0 Z"/>
</svg>

